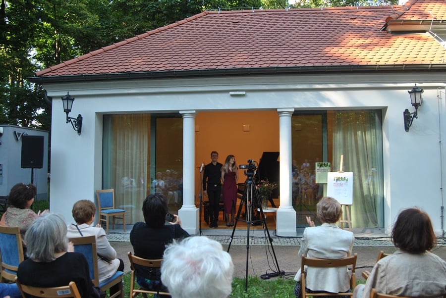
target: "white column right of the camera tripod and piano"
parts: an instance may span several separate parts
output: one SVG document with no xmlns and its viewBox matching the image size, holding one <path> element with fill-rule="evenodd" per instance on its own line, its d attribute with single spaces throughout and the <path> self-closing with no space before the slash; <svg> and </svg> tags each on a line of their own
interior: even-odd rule
<svg viewBox="0 0 446 298">
<path fill-rule="evenodd" d="M 291 203 L 291 116 L 293 108 L 279 108 L 280 206 L 277 210 L 277 235 L 297 236 L 296 211 Z"/>
</svg>

